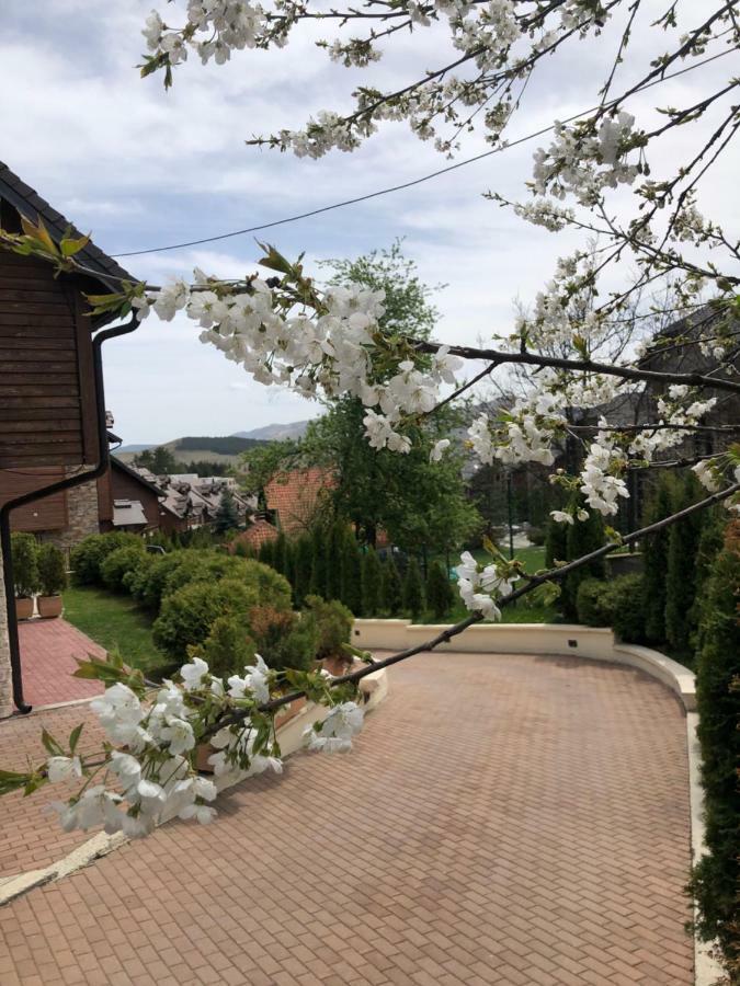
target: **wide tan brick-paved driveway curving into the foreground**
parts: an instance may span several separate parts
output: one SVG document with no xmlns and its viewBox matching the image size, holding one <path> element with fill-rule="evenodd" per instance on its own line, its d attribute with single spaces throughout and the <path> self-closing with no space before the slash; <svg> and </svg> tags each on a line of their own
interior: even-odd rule
<svg viewBox="0 0 740 986">
<path fill-rule="evenodd" d="M 683 713 L 638 672 L 421 655 L 299 755 L 0 910 L 3 986 L 688 986 Z"/>
</svg>

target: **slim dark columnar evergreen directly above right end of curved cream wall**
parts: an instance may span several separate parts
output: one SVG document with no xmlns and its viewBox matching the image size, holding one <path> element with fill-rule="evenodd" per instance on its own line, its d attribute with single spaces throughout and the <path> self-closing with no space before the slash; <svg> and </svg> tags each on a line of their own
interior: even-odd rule
<svg viewBox="0 0 740 986">
<path fill-rule="evenodd" d="M 671 513 L 683 509 L 702 495 L 692 474 L 676 483 Z M 696 555 L 702 536 L 703 514 L 697 512 L 669 528 L 665 576 L 665 639 L 679 661 L 691 664 L 694 630 L 692 609 L 696 595 Z"/>
</svg>

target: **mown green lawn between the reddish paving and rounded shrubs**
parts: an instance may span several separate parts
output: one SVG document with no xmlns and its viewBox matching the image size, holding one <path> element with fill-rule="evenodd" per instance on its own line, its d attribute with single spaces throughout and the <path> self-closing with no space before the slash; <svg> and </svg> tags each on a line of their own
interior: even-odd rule
<svg viewBox="0 0 740 986">
<path fill-rule="evenodd" d="M 106 651 L 117 650 L 129 666 L 144 670 L 166 660 L 151 639 L 152 620 L 130 596 L 72 586 L 64 601 L 65 619 Z"/>
</svg>

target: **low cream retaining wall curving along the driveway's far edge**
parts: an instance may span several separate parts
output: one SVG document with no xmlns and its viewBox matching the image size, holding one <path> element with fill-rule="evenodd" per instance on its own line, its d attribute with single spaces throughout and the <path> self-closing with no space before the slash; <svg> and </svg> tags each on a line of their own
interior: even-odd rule
<svg viewBox="0 0 740 986">
<path fill-rule="evenodd" d="M 368 651 L 402 651 L 431 640 L 448 624 L 418 624 L 410 620 L 356 620 L 355 646 Z M 608 628 L 569 623 L 480 623 L 468 627 L 440 651 L 474 654 L 542 654 L 589 657 L 637 667 L 668 685 L 687 712 L 696 709 L 694 675 L 682 664 L 650 647 L 619 643 Z"/>
</svg>

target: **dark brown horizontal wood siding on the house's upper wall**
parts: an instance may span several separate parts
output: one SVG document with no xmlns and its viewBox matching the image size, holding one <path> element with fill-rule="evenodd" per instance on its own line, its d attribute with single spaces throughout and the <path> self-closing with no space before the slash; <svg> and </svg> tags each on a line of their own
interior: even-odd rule
<svg viewBox="0 0 740 986">
<path fill-rule="evenodd" d="M 92 333 L 75 279 L 0 253 L 0 470 L 92 465 Z"/>
</svg>

